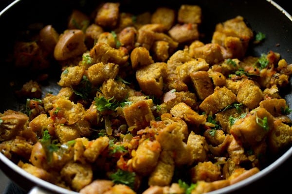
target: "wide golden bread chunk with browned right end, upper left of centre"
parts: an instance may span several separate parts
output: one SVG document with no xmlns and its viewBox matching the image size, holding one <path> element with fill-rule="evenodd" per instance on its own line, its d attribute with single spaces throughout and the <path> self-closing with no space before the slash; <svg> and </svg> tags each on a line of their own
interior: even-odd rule
<svg viewBox="0 0 292 194">
<path fill-rule="evenodd" d="M 114 79 L 119 69 L 119 65 L 113 63 L 97 63 L 91 65 L 88 70 L 85 71 L 85 74 L 93 85 L 100 85 L 110 78 Z"/>
</svg>

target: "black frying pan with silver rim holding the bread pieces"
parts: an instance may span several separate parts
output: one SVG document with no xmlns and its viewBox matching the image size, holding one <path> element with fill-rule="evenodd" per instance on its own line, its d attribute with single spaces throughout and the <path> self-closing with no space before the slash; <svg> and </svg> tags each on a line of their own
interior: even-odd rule
<svg viewBox="0 0 292 194">
<path fill-rule="evenodd" d="M 82 4 L 82 2 L 86 2 L 86 4 Z M 78 8 L 84 13 L 90 13 L 92 11 L 91 8 L 100 2 L 98 0 L 95 0 L 95 2 L 90 0 L 15 0 L 0 12 L 1 113 L 7 109 L 19 110 L 23 106 L 23 101 L 19 101 L 14 91 L 25 81 L 35 77 L 35 72 L 29 69 L 18 70 L 6 60 L 7 56 L 11 54 L 13 42 L 18 39 L 19 31 L 26 29 L 31 23 L 40 22 L 52 24 L 58 32 L 62 32 L 67 24 L 67 16 L 69 16 L 73 8 Z M 205 34 L 202 42 L 205 43 L 211 41 L 212 33 L 217 23 L 238 15 L 243 16 L 253 31 L 266 34 L 265 41 L 251 48 L 248 54 L 260 56 L 261 53 L 273 50 L 280 53 L 288 64 L 292 63 L 292 17 L 272 0 L 120 0 L 119 2 L 121 2 L 121 9 L 131 13 L 153 11 L 157 6 L 178 8 L 183 3 L 200 5 L 203 12 L 201 32 Z M 43 94 L 47 92 L 57 94 L 59 90 L 56 82 L 61 71 L 58 71 L 57 64 L 52 64 L 52 66 L 54 68 L 52 70 L 49 69 L 47 72 L 49 74 L 48 81 L 42 85 Z M 288 87 L 282 91 L 282 95 L 284 95 L 288 105 L 291 107 L 291 81 Z M 289 116 L 291 117 L 291 115 Z M 283 168 L 285 162 L 291 161 L 291 158 L 292 147 L 280 153 L 272 164 L 256 175 L 210 194 L 270 193 L 272 191 L 271 188 L 275 183 L 279 183 L 281 178 L 280 174 L 274 173 L 281 167 Z M 0 168 L 8 178 L 30 194 L 76 194 L 76 192 L 68 191 L 30 175 L 2 154 L 0 154 Z M 289 169 L 284 170 L 291 172 Z M 276 176 L 276 180 L 274 176 Z M 289 179 L 286 182 L 290 182 Z M 272 187 L 271 184 L 273 184 Z M 284 190 L 277 188 L 277 191 Z"/>
</svg>

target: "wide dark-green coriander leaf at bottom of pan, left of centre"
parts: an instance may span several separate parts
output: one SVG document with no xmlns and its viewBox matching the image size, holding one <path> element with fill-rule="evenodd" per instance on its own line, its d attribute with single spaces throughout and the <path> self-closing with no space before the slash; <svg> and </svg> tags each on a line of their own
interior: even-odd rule
<svg viewBox="0 0 292 194">
<path fill-rule="evenodd" d="M 134 172 L 128 172 L 121 169 L 118 169 L 117 172 L 110 175 L 110 179 L 115 184 L 124 184 L 130 188 L 134 188 L 136 174 Z"/>
</svg>

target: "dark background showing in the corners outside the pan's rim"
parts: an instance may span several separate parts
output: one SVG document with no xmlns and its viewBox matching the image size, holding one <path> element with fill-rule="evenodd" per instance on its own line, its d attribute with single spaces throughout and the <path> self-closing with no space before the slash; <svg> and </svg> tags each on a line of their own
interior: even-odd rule
<svg viewBox="0 0 292 194">
<path fill-rule="evenodd" d="M 255 0 L 257 1 L 257 0 Z M 0 0 L 0 10 L 5 8 L 12 0 Z M 290 0 L 274 0 L 288 13 L 292 15 L 292 6 Z M 260 7 L 259 7 L 260 9 Z M 271 25 L 271 27 L 273 24 Z M 273 27 L 272 27 L 273 28 Z M 5 27 L 1 27 L 5 30 Z M 291 43 L 292 44 L 292 43 Z M 288 61 L 292 63 L 292 61 Z M 2 92 L 1 92 L 2 94 Z M 3 102 L 1 102 L 3 103 Z M 264 178 L 253 182 L 252 184 L 236 191 L 232 194 L 282 194 L 292 193 L 292 157 L 284 162 L 280 167 L 269 173 Z M 25 194 L 23 191 L 11 182 L 0 170 L 0 193 L 1 194 Z"/>
</svg>

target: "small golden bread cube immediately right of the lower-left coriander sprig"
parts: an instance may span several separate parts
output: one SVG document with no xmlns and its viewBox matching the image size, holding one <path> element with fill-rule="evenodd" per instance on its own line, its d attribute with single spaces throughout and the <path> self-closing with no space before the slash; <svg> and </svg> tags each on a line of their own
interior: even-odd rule
<svg viewBox="0 0 292 194">
<path fill-rule="evenodd" d="M 80 137 L 79 130 L 77 128 L 67 125 L 57 125 L 55 127 L 55 134 L 61 144 Z"/>
</svg>

